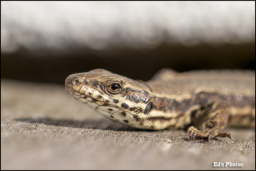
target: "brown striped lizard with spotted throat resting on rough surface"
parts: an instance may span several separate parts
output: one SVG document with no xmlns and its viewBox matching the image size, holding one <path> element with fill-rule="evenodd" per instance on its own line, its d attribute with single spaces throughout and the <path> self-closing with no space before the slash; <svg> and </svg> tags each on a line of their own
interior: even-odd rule
<svg viewBox="0 0 256 171">
<path fill-rule="evenodd" d="M 71 74 L 68 94 L 105 117 L 139 129 L 187 129 L 189 139 L 217 136 L 227 125 L 255 128 L 255 71 L 169 68 L 143 82 L 104 69 Z"/>
</svg>

